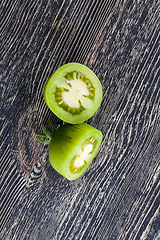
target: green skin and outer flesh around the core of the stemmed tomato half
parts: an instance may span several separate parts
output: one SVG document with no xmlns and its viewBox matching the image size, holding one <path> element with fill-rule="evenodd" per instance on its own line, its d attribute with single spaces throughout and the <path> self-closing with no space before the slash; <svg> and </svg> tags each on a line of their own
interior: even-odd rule
<svg viewBox="0 0 160 240">
<path fill-rule="evenodd" d="M 89 137 L 94 137 L 97 144 L 89 156 L 85 168 L 79 173 L 70 172 L 70 163 L 77 154 L 83 142 Z M 94 159 L 102 141 L 102 133 L 89 124 L 65 124 L 57 129 L 49 144 L 49 160 L 52 167 L 68 180 L 79 178 L 89 167 Z"/>
</svg>

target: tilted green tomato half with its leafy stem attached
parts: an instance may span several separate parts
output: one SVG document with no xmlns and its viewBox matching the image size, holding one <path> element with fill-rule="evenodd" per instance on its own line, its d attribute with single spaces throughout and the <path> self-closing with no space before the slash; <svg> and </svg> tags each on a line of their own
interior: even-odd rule
<svg viewBox="0 0 160 240">
<path fill-rule="evenodd" d="M 79 178 L 94 159 L 101 141 L 102 133 L 86 124 L 65 124 L 54 133 L 48 132 L 44 126 L 47 141 L 37 138 L 42 143 L 49 144 L 49 161 L 52 167 L 68 180 Z"/>
</svg>

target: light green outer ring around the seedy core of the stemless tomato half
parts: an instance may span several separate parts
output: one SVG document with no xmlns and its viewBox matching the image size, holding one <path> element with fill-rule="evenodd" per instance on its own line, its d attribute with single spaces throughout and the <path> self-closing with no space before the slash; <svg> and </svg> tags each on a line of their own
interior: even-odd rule
<svg viewBox="0 0 160 240">
<path fill-rule="evenodd" d="M 59 107 L 55 100 L 55 91 L 57 86 L 59 87 L 63 85 L 64 76 L 66 73 L 73 71 L 78 71 L 90 79 L 93 83 L 95 91 L 94 100 L 91 100 L 90 102 L 88 101 L 89 105 L 87 108 L 85 108 L 84 111 L 77 115 L 73 115 Z M 83 123 L 91 118 L 100 107 L 100 104 L 102 102 L 102 95 L 102 86 L 95 73 L 85 65 L 79 63 L 68 63 L 58 68 L 46 82 L 43 91 L 44 100 L 50 110 L 61 120 L 71 124 Z"/>
</svg>

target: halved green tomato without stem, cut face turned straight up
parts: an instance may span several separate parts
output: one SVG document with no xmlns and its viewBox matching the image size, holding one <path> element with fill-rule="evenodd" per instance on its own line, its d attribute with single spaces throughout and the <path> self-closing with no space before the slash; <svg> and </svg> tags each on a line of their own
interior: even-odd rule
<svg viewBox="0 0 160 240">
<path fill-rule="evenodd" d="M 58 68 L 45 84 L 43 96 L 61 120 L 77 124 L 94 115 L 102 102 L 102 86 L 95 73 L 79 63 Z"/>
</svg>

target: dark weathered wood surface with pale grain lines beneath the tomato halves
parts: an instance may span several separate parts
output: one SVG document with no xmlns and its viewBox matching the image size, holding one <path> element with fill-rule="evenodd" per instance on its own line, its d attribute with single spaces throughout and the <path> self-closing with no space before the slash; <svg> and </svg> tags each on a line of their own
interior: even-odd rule
<svg viewBox="0 0 160 240">
<path fill-rule="evenodd" d="M 160 2 L 0 1 L 0 239 L 160 239 Z M 42 93 L 64 63 L 90 67 L 103 142 L 68 181 L 35 131 Z"/>
</svg>

